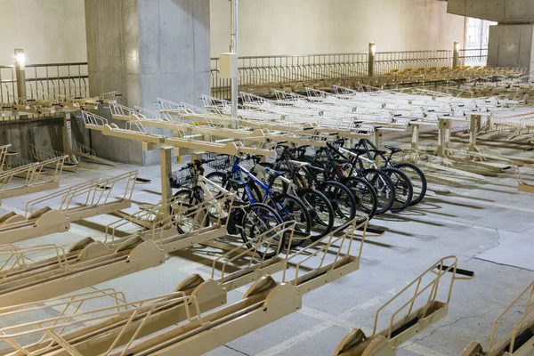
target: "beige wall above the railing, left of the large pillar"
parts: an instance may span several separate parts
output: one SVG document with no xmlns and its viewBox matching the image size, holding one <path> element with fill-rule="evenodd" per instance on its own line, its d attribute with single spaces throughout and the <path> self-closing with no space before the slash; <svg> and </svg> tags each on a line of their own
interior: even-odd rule
<svg viewBox="0 0 534 356">
<path fill-rule="evenodd" d="M 86 61 L 84 0 L 0 0 L 0 64 Z"/>
</svg>

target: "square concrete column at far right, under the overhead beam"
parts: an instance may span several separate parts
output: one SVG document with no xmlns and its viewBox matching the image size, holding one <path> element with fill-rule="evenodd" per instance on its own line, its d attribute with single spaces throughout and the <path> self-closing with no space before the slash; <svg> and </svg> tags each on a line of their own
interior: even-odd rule
<svg viewBox="0 0 534 356">
<path fill-rule="evenodd" d="M 490 26 L 488 65 L 527 69 L 534 74 L 534 25 Z"/>
</svg>

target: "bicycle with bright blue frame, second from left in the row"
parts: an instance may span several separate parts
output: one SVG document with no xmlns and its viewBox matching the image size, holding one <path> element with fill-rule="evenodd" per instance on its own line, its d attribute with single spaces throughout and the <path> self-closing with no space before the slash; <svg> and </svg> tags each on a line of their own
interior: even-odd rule
<svg viewBox="0 0 534 356">
<path fill-rule="evenodd" d="M 292 194 L 271 190 L 272 182 L 277 177 L 283 176 L 285 172 L 263 168 L 265 173 L 271 175 L 271 180 L 270 182 L 262 182 L 255 174 L 240 164 L 244 160 L 252 160 L 257 165 L 260 162 L 260 157 L 247 155 L 244 159 L 233 158 L 233 164 L 231 164 L 231 157 L 227 159 L 228 166 L 231 166 L 230 171 L 212 172 L 207 174 L 206 178 L 212 182 L 220 183 L 227 190 L 236 190 L 238 197 L 243 201 L 249 201 L 251 204 L 263 203 L 273 207 L 283 222 L 296 222 L 292 247 L 298 246 L 310 238 L 312 217 L 303 201 Z"/>
</svg>

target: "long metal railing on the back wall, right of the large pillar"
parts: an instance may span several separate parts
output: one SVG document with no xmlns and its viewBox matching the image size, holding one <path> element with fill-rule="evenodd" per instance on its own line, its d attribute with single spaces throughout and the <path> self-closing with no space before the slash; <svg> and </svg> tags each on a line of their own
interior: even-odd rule
<svg viewBox="0 0 534 356">
<path fill-rule="evenodd" d="M 460 50 L 458 65 L 483 66 L 487 59 L 488 49 Z M 374 74 L 383 75 L 392 69 L 440 69 L 451 67 L 452 61 L 452 50 L 379 52 L 375 53 Z M 362 77 L 368 75 L 368 53 L 239 57 L 238 67 L 240 86 Z M 231 79 L 220 77 L 218 68 L 219 59 L 212 58 L 212 96 L 226 99 L 231 94 Z"/>
</svg>

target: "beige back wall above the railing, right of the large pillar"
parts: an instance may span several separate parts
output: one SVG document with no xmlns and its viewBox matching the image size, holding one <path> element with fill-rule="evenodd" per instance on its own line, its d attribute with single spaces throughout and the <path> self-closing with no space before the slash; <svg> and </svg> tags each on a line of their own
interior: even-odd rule
<svg viewBox="0 0 534 356">
<path fill-rule="evenodd" d="M 230 2 L 210 0 L 211 53 L 229 51 Z M 452 49 L 464 18 L 436 0 L 241 0 L 239 55 Z"/>
</svg>

